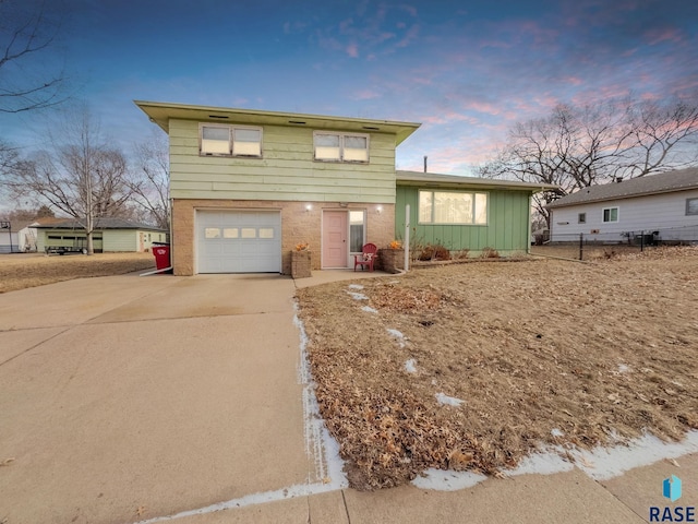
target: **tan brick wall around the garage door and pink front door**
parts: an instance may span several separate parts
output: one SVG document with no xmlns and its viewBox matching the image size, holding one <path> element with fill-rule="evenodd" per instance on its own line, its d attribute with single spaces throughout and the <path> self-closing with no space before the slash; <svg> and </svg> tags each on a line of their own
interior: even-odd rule
<svg viewBox="0 0 698 524">
<path fill-rule="evenodd" d="M 306 211 L 308 204 L 312 205 Z M 378 205 L 382 211 L 378 212 Z M 176 275 L 194 274 L 194 215 L 195 210 L 269 210 L 281 212 L 281 272 L 291 272 L 291 250 L 297 243 L 309 242 L 313 270 L 321 269 L 323 210 L 340 211 L 338 202 L 285 202 L 268 200 L 183 200 L 172 203 L 172 263 Z M 354 204 L 352 211 L 366 211 L 366 241 L 378 248 L 394 239 L 394 204 Z"/>
</svg>

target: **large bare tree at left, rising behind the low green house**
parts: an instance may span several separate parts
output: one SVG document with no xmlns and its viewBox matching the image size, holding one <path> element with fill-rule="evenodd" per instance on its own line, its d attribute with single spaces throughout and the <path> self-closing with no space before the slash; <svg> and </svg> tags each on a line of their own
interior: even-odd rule
<svg viewBox="0 0 698 524">
<path fill-rule="evenodd" d="M 69 112 L 47 133 L 48 150 L 10 169 L 5 183 L 15 196 L 49 203 L 80 221 L 94 253 L 96 219 L 115 216 L 132 193 L 123 154 L 107 145 L 86 108 Z"/>
</svg>

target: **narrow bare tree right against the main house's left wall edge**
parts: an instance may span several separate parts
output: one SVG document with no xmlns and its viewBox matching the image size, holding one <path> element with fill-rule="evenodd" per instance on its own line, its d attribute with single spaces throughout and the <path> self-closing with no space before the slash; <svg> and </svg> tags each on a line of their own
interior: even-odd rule
<svg viewBox="0 0 698 524">
<path fill-rule="evenodd" d="M 135 170 L 131 181 L 133 202 L 145 210 L 158 227 L 170 224 L 170 163 L 166 136 L 153 130 L 146 142 L 134 145 Z"/>
</svg>

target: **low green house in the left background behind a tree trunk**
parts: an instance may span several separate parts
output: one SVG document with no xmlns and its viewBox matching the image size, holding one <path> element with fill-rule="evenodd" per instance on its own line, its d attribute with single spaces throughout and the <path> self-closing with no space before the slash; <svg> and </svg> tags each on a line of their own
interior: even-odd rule
<svg viewBox="0 0 698 524">
<path fill-rule="evenodd" d="M 36 229 L 37 251 L 51 248 L 86 248 L 87 234 L 80 221 L 40 222 L 33 224 Z M 146 224 L 137 224 L 122 218 L 96 218 L 93 231 L 95 252 L 145 252 L 154 242 L 165 242 L 167 231 Z"/>
</svg>

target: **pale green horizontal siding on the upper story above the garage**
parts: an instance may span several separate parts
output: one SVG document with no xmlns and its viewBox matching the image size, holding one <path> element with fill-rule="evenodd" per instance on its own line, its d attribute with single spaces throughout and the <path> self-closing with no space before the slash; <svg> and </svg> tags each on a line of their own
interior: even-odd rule
<svg viewBox="0 0 698 524">
<path fill-rule="evenodd" d="M 370 162 L 350 164 L 314 162 L 312 128 L 263 129 L 262 158 L 207 157 L 198 155 L 198 122 L 170 120 L 170 195 L 395 202 L 394 134 L 370 133 Z"/>
</svg>

